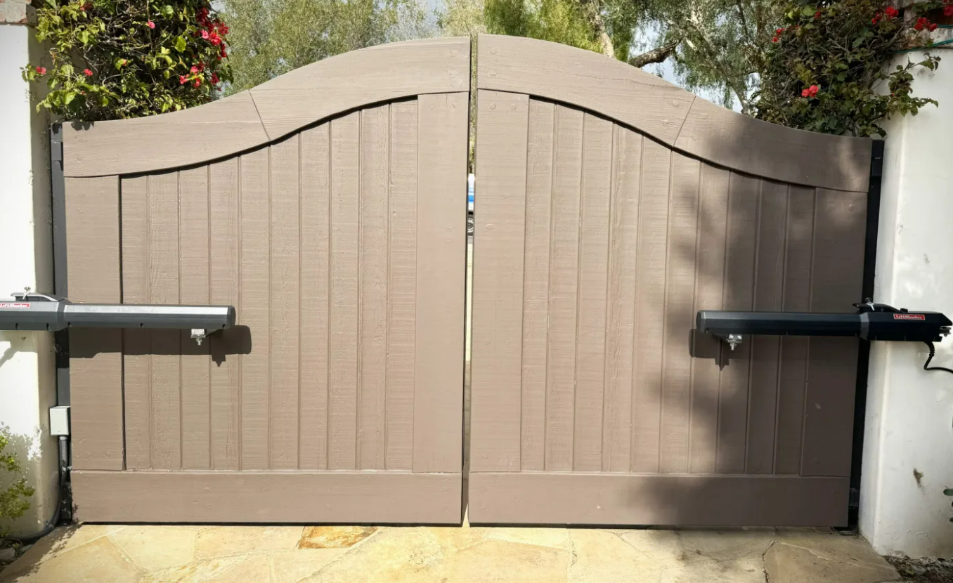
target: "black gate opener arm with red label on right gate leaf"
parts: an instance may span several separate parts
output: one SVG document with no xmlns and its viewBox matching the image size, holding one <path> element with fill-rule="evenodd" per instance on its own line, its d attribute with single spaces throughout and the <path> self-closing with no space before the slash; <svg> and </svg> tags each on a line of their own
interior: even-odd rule
<svg viewBox="0 0 953 583">
<path fill-rule="evenodd" d="M 857 336 L 863 340 L 939 342 L 953 322 L 941 312 L 908 312 L 886 304 L 854 304 L 854 313 L 722 312 L 701 310 L 700 332 L 718 336 L 732 350 L 745 334 Z"/>
</svg>

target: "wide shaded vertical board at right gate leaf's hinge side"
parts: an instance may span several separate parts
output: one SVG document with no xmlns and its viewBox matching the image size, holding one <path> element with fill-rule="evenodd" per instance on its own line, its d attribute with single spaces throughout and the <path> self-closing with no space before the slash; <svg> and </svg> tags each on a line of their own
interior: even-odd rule
<svg viewBox="0 0 953 583">
<path fill-rule="evenodd" d="M 818 189 L 811 312 L 842 312 L 863 279 L 865 192 Z M 801 475 L 850 475 L 857 338 L 810 339 Z"/>
</svg>

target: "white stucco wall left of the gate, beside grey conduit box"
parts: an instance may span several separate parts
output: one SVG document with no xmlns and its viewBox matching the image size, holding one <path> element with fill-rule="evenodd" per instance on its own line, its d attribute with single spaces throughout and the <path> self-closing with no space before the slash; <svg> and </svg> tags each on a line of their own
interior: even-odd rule
<svg viewBox="0 0 953 583">
<path fill-rule="evenodd" d="M 20 76 L 40 55 L 33 35 L 28 26 L 0 24 L 0 297 L 25 287 L 52 292 L 47 117 Z M 15 534 L 40 530 L 55 510 L 56 441 L 47 427 L 54 366 L 50 333 L 0 332 L 0 425 L 10 428 L 10 448 L 37 491 Z"/>
</svg>

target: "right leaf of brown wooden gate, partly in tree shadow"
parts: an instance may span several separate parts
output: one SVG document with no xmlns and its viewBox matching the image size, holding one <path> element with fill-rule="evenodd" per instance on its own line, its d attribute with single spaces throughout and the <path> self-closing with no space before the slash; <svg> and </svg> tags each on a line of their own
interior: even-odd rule
<svg viewBox="0 0 953 583">
<path fill-rule="evenodd" d="M 858 341 L 689 331 L 861 301 L 870 140 L 477 46 L 471 521 L 845 524 Z"/>
</svg>

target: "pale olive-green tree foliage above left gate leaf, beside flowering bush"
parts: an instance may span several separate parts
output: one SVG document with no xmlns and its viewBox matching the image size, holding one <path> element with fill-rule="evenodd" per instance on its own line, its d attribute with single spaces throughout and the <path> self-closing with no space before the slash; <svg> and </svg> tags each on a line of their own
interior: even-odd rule
<svg viewBox="0 0 953 583">
<path fill-rule="evenodd" d="M 233 84 L 246 90 L 314 61 L 381 43 L 429 36 L 414 0 L 223 0 L 232 29 Z"/>
</svg>

